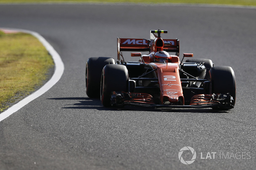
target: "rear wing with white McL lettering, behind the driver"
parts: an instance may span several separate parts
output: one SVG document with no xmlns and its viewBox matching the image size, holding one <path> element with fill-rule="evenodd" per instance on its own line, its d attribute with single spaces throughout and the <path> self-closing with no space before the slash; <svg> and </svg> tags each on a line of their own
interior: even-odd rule
<svg viewBox="0 0 256 170">
<path fill-rule="evenodd" d="M 154 40 L 146 39 L 129 39 L 117 37 L 117 59 L 120 59 L 121 51 L 152 51 L 152 43 Z M 164 51 L 175 52 L 179 56 L 180 41 L 178 39 L 164 39 Z"/>
</svg>

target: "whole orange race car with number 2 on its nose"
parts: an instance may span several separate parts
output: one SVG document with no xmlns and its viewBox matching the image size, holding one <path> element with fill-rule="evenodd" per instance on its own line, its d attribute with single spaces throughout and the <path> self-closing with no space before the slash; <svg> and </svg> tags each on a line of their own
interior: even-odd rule
<svg viewBox="0 0 256 170">
<path fill-rule="evenodd" d="M 117 37 L 117 59 L 91 57 L 86 63 L 86 94 L 100 97 L 105 107 L 137 105 L 146 107 L 232 109 L 236 101 L 234 71 L 213 67 L 209 59 L 179 59 L 178 39 L 162 39 L 162 30 L 151 30 L 150 39 Z M 138 62 L 125 62 L 122 51 L 148 51 Z M 173 52 L 175 55 L 170 55 Z"/>
</svg>

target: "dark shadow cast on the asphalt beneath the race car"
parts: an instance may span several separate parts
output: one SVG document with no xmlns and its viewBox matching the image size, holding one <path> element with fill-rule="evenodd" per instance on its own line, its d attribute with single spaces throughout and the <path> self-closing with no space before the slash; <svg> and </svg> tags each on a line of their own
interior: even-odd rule
<svg viewBox="0 0 256 170">
<path fill-rule="evenodd" d="M 154 108 L 154 107 L 140 107 L 140 106 L 124 106 L 124 107 L 103 107 L 100 99 L 89 97 L 67 97 L 67 98 L 50 98 L 49 100 L 65 100 L 64 104 L 68 107 L 61 107 L 62 109 L 97 109 L 97 110 L 118 110 L 118 111 L 147 111 L 147 112 L 178 112 L 178 113 L 229 113 L 229 111 L 215 110 L 211 108 Z M 74 101 L 75 100 L 75 101 Z M 69 102 L 69 101 L 68 101 Z"/>
</svg>

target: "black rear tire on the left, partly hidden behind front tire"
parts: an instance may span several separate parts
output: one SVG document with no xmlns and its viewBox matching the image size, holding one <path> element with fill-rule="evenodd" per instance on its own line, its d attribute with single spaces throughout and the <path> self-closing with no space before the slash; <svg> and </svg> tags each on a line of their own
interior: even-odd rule
<svg viewBox="0 0 256 170">
<path fill-rule="evenodd" d="M 91 57 L 87 60 L 85 70 L 85 86 L 88 97 L 100 97 L 101 72 L 103 67 L 107 64 L 115 64 L 115 60 L 109 57 Z"/>
</svg>

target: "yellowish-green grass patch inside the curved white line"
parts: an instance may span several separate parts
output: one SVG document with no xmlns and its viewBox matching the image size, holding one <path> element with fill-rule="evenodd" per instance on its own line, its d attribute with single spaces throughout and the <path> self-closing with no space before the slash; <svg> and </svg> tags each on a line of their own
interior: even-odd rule
<svg viewBox="0 0 256 170">
<path fill-rule="evenodd" d="M 32 35 L 0 31 L 0 111 L 42 85 L 52 57 Z"/>
</svg>

